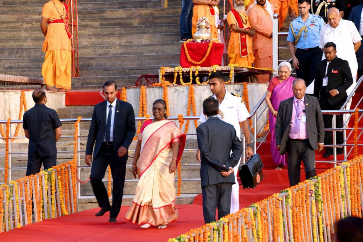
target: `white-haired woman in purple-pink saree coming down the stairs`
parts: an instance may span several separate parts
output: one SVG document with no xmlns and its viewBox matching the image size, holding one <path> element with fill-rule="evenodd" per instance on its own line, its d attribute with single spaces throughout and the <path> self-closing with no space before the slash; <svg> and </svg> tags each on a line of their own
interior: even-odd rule
<svg viewBox="0 0 363 242">
<path fill-rule="evenodd" d="M 277 165 L 277 170 L 286 167 L 287 165 L 287 154 L 280 155 L 276 149 L 275 140 L 275 124 L 277 118 L 277 110 L 280 102 L 291 98 L 293 94 L 293 81 L 294 77 L 290 77 L 291 65 L 287 61 L 283 61 L 278 65 L 278 76 L 270 80 L 269 86 L 266 91 L 265 102 L 269 108 L 269 123 L 270 123 L 270 149 L 273 162 Z"/>
</svg>

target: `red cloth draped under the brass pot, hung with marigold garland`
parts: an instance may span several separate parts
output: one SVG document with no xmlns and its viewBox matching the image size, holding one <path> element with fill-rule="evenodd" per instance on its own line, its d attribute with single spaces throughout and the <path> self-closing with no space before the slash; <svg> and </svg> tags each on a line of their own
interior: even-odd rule
<svg viewBox="0 0 363 242">
<path fill-rule="evenodd" d="M 209 43 L 187 43 L 187 49 L 190 58 L 199 62 L 203 59 L 208 50 Z M 213 43 L 211 51 L 209 52 L 205 61 L 200 64 L 194 64 L 188 61 L 187 54 L 185 54 L 184 44 L 181 45 L 180 49 L 180 66 L 183 68 L 188 68 L 191 66 L 201 66 L 201 67 L 211 67 L 213 65 L 222 64 L 224 45 L 220 43 Z"/>
</svg>

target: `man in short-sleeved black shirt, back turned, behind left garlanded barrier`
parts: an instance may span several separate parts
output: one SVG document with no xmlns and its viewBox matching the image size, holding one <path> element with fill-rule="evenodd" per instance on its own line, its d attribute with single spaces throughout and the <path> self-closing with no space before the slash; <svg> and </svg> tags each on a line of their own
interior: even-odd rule
<svg viewBox="0 0 363 242">
<path fill-rule="evenodd" d="M 44 169 L 52 168 L 57 161 L 56 142 L 61 136 L 61 122 L 56 110 L 45 106 L 45 92 L 37 89 L 33 92 L 35 106 L 23 115 L 25 137 L 29 139 L 28 167 L 26 176 Z"/>
</svg>

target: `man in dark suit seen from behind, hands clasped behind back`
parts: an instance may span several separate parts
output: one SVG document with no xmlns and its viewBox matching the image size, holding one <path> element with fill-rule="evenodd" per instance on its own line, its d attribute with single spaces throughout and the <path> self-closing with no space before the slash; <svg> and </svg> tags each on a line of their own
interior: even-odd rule
<svg viewBox="0 0 363 242">
<path fill-rule="evenodd" d="M 208 120 L 197 128 L 205 223 L 216 221 L 216 208 L 218 219 L 230 213 L 232 185 L 235 183 L 233 167 L 243 152 L 234 127 L 218 118 L 218 108 L 215 98 L 205 99 L 203 114 Z"/>
</svg>

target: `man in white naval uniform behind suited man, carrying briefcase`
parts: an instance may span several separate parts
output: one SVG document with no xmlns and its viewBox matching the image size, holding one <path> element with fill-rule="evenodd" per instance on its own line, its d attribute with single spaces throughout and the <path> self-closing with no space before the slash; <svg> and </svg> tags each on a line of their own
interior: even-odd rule
<svg viewBox="0 0 363 242">
<path fill-rule="evenodd" d="M 240 95 L 235 95 L 229 93 L 225 90 L 225 79 L 224 74 L 220 71 L 214 72 L 209 76 L 209 88 L 211 89 L 212 96 L 219 102 L 219 114 L 218 117 L 227 122 L 232 124 L 233 127 L 236 129 L 237 136 L 240 138 L 241 128 L 242 132 L 246 139 L 246 157 L 250 157 L 253 155 L 252 151 L 252 143 L 249 127 L 247 123 L 247 118 L 250 116 L 245 104 L 242 101 Z M 199 121 L 205 122 L 207 119 L 203 112 L 200 114 Z M 217 139 L 218 137 L 216 137 Z M 241 138 L 240 138 L 241 139 Z M 196 155 L 197 160 L 200 161 L 200 151 L 197 151 Z M 233 168 L 235 184 L 232 185 L 232 197 L 231 197 L 231 212 L 235 213 L 240 209 L 239 203 L 239 185 L 237 182 L 237 172 L 238 166 L 240 165 L 240 161 L 238 164 Z"/>
</svg>

